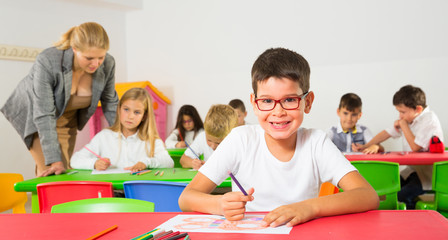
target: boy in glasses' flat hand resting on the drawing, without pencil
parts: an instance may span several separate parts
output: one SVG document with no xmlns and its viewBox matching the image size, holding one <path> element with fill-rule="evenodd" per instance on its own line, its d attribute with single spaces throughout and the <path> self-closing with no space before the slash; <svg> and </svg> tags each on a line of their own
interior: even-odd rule
<svg viewBox="0 0 448 240">
<path fill-rule="evenodd" d="M 298 202 L 283 205 L 272 210 L 264 217 L 262 226 L 277 227 L 286 224 L 287 227 L 293 227 L 299 223 L 311 220 L 315 216 L 315 211 L 310 204 Z"/>
</svg>

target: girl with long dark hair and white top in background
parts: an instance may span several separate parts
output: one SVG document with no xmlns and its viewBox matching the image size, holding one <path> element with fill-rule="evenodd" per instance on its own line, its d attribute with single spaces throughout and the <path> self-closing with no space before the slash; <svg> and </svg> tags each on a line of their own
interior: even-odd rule
<svg viewBox="0 0 448 240">
<path fill-rule="evenodd" d="M 186 148 L 191 144 L 200 132 L 204 130 L 204 124 L 198 111 L 191 105 L 183 105 L 177 113 L 176 127 L 166 138 L 166 148 Z"/>
</svg>

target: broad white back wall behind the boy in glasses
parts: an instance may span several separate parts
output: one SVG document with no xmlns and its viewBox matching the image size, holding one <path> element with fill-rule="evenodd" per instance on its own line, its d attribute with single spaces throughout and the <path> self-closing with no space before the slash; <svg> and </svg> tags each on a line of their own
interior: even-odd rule
<svg viewBox="0 0 448 240">
<path fill-rule="evenodd" d="M 169 129 L 183 104 L 204 118 L 210 105 L 233 98 L 256 123 L 252 64 L 265 49 L 285 47 L 311 65 L 316 100 L 303 126 L 336 124 L 340 97 L 355 92 L 364 102 L 360 122 L 376 134 L 398 117 L 393 94 L 414 84 L 448 142 L 447 11 L 446 1 L 145 1 L 127 15 L 128 79 L 149 80 L 173 101 Z"/>
</svg>

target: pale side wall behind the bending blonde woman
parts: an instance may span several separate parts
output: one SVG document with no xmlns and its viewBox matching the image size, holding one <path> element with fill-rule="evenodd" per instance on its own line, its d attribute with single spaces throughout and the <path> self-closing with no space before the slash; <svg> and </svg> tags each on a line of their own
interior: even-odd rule
<svg viewBox="0 0 448 240">
<path fill-rule="evenodd" d="M 70 27 L 95 21 L 108 32 L 116 60 L 116 81 L 126 81 L 125 12 L 91 4 L 59 0 L 0 0 L 0 43 L 36 48 L 50 47 Z M 0 59 L 0 106 L 29 72 L 31 62 Z M 33 178 L 34 160 L 25 144 L 0 114 L 0 172 L 22 173 Z"/>
</svg>

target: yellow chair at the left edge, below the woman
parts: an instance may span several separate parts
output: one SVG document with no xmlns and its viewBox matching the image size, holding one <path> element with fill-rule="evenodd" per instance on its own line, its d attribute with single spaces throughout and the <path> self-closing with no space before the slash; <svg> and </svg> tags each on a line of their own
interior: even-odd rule
<svg viewBox="0 0 448 240">
<path fill-rule="evenodd" d="M 12 209 L 12 213 L 26 213 L 26 193 L 14 190 L 14 184 L 21 181 L 23 176 L 20 173 L 0 173 L 0 212 Z"/>
</svg>

